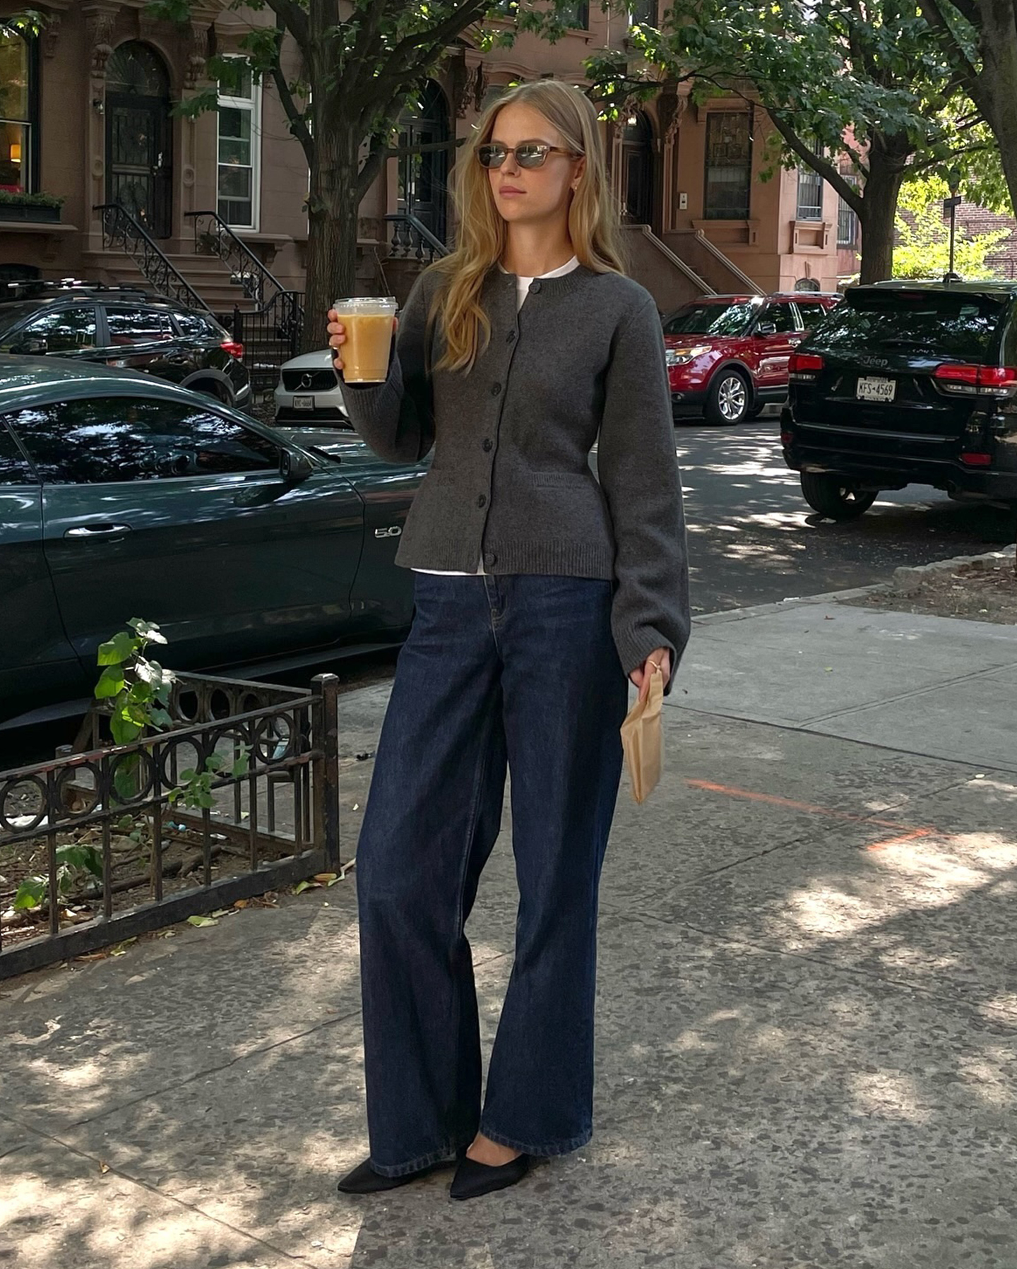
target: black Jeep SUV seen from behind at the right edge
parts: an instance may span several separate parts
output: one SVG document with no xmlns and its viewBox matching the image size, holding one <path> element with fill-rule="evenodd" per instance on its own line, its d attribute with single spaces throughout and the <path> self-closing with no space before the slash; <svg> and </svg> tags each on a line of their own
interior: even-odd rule
<svg viewBox="0 0 1017 1269">
<path fill-rule="evenodd" d="M 781 419 L 806 503 L 849 520 L 880 490 L 1017 504 L 1017 284 L 852 287 L 791 357 Z"/>
</svg>

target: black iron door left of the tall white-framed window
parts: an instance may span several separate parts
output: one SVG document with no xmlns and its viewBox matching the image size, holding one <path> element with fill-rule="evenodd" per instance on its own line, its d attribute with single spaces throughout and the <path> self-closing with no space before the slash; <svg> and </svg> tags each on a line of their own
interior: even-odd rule
<svg viewBox="0 0 1017 1269">
<path fill-rule="evenodd" d="M 152 237 L 170 236 L 173 155 L 169 102 L 107 93 L 105 197 L 121 203 Z"/>
</svg>

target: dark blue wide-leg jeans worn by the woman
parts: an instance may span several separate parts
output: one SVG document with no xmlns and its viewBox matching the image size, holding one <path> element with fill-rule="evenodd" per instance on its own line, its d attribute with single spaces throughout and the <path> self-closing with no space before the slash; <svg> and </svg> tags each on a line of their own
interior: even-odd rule
<svg viewBox="0 0 1017 1269">
<path fill-rule="evenodd" d="M 418 574 L 357 850 L 371 1161 L 400 1176 L 477 1128 L 531 1155 L 592 1133 L 597 890 L 627 683 L 612 584 Z M 463 924 L 512 772 L 515 962 L 481 1114 Z"/>
</svg>

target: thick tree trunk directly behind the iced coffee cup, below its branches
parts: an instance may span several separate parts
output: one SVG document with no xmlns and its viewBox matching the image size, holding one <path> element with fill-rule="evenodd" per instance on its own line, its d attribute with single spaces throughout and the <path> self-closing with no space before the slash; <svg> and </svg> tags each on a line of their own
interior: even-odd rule
<svg viewBox="0 0 1017 1269">
<path fill-rule="evenodd" d="M 354 129 L 343 121 L 322 126 L 311 165 L 307 202 L 307 289 L 301 350 L 326 344 L 333 301 L 357 294 L 357 150 Z"/>
</svg>

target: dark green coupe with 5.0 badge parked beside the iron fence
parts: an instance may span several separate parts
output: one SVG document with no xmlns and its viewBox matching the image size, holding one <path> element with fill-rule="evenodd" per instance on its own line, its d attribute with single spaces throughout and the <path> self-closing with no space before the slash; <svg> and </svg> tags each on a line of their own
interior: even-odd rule
<svg viewBox="0 0 1017 1269">
<path fill-rule="evenodd" d="M 0 722 L 88 697 L 131 617 L 179 670 L 397 643 L 424 464 L 131 371 L 0 355 Z"/>
</svg>

